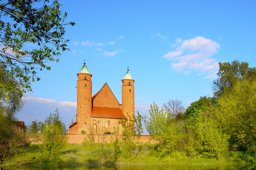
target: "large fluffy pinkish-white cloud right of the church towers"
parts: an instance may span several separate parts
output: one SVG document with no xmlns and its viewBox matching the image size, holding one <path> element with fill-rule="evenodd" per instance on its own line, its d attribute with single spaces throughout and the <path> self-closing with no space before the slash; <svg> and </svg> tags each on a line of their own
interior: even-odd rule
<svg viewBox="0 0 256 170">
<path fill-rule="evenodd" d="M 167 60 L 177 61 L 172 63 L 172 69 L 183 71 L 185 74 L 192 73 L 193 70 L 199 73 L 209 74 L 205 78 L 213 78 L 218 70 L 218 62 L 211 58 L 218 52 L 220 44 L 205 37 L 195 37 L 188 40 L 176 39 L 174 46 L 178 48 L 165 54 Z"/>
</svg>

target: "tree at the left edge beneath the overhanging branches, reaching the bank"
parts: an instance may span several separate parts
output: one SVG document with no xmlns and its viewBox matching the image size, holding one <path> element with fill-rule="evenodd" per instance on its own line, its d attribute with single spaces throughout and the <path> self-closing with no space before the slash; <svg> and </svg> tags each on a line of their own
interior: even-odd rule
<svg viewBox="0 0 256 170">
<path fill-rule="evenodd" d="M 15 132 L 15 113 L 20 111 L 24 101 L 19 96 L 21 87 L 0 63 L 0 84 L 7 84 L 11 91 L 0 85 L 0 163 L 12 156 L 16 147 L 23 145 L 24 138 Z"/>
</svg>

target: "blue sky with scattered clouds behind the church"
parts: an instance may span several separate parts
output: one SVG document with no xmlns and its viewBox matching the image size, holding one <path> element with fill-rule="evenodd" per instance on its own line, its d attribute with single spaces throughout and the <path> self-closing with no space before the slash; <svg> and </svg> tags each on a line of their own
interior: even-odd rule
<svg viewBox="0 0 256 170">
<path fill-rule="evenodd" d="M 212 94 L 218 62 L 234 60 L 254 67 L 256 1 L 61 1 L 68 12 L 69 51 L 23 98 L 17 117 L 27 125 L 44 121 L 58 107 L 68 126 L 76 116 L 77 73 L 86 60 L 92 94 L 108 83 L 119 103 L 122 79 L 135 80 L 135 112 L 148 114 L 180 99 L 185 107 Z M 26 46 L 26 45 L 25 45 Z M 33 47 L 31 44 L 27 44 Z M 35 45 L 36 47 L 36 45 Z"/>
</svg>

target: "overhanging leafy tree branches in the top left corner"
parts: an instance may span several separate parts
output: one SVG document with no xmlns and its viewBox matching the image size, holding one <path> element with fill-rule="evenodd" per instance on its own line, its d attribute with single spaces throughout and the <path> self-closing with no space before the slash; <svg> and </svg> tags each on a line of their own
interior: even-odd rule
<svg viewBox="0 0 256 170">
<path fill-rule="evenodd" d="M 58 0 L 8 0 L 0 3 L 0 64 L 17 78 L 20 96 L 31 90 L 31 81 L 39 80 L 36 70 L 50 70 L 47 61 L 59 61 L 61 51 L 68 50 L 64 39 L 67 13 L 60 11 Z M 26 46 L 33 43 L 37 47 Z M 7 91 L 8 84 L 1 84 Z"/>
</svg>

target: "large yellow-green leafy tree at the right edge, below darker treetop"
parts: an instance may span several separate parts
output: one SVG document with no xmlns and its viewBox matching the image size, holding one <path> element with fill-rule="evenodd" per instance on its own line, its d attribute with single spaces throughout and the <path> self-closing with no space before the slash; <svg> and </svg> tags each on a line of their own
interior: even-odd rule
<svg viewBox="0 0 256 170">
<path fill-rule="evenodd" d="M 223 91 L 216 115 L 225 133 L 231 135 L 232 150 L 256 153 L 256 82 L 239 80 Z"/>
</svg>

